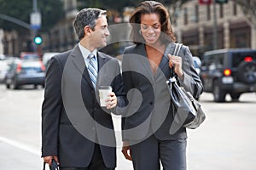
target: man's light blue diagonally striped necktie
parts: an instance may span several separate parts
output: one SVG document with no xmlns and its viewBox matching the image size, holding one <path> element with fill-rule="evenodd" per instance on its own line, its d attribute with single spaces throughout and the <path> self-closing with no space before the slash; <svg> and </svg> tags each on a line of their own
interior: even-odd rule
<svg viewBox="0 0 256 170">
<path fill-rule="evenodd" d="M 92 85 L 94 88 L 96 88 L 96 80 L 97 80 L 97 63 L 96 63 L 96 57 L 94 54 L 89 54 L 89 65 L 88 65 L 88 71 L 90 74 L 90 80 L 92 82 Z"/>
</svg>

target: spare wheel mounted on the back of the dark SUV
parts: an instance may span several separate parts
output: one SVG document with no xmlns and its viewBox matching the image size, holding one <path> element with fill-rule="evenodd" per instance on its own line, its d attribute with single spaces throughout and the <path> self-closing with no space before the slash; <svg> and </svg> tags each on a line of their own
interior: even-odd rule
<svg viewBox="0 0 256 170">
<path fill-rule="evenodd" d="M 241 62 L 238 67 L 238 78 L 241 82 L 256 82 L 256 62 Z"/>
</svg>

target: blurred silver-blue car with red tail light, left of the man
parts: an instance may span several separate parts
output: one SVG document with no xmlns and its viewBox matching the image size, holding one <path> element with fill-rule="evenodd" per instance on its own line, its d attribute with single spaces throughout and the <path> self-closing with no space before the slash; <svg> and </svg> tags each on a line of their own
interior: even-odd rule
<svg viewBox="0 0 256 170">
<path fill-rule="evenodd" d="M 41 60 L 15 59 L 6 74 L 6 88 L 18 89 L 22 85 L 33 84 L 44 87 L 45 67 Z"/>
</svg>

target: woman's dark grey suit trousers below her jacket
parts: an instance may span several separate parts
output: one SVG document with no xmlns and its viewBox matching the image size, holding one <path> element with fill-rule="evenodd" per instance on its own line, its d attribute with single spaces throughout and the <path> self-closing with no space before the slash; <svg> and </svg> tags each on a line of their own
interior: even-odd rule
<svg viewBox="0 0 256 170">
<path fill-rule="evenodd" d="M 134 170 L 186 170 L 187 139 L 159 140 L 154 135 L 130 146 Z"/>
</svg>

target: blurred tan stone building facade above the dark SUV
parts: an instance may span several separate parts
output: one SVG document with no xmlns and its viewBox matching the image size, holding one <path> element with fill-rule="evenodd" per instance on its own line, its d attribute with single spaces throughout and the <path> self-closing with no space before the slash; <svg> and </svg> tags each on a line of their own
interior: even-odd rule
<svg viewBox="0 0 256 170">
<path fill-rule="evenodd" d="M 252 17 L 245 14 L 241 6 L 229 3 L 205 5 L 198 0 L 183 4 L 178 14 L 174 31 L 177 41 L 189 45 L 192 53 L 201 55 L 214 48 L 256 48 L 256 34 Z M 214 37 L 214 29 L 217 32 Z"/>
</svg>

